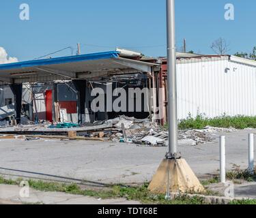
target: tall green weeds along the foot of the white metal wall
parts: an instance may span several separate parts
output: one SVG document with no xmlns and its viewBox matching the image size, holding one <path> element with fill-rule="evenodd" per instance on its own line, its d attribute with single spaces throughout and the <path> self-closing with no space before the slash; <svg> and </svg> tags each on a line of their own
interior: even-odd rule
<svg viewBox="0 0 256 218">
<path fill-rule="evenodd" d="M 179 121 L 179 129 L 203 129 L 206 126 L 236 129 L 256 128 L 256 116 L 220 116 L 213 119 L 198 114 L 193 118 L 190 114 L 187 119 Z M 168 129 L 168 125 L 165 125 Z"/>
</svg>

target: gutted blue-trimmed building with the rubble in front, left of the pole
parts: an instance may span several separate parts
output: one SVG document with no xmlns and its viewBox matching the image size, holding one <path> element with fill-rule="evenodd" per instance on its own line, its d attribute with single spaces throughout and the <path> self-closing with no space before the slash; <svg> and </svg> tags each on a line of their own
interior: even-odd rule
<svg viewBox="0 0 256 218">
<path fill-rule="evenodd" d="M 161 69 L 121 48 L 0 65 L 0 134 L 167 146 Z"/>
</svg>

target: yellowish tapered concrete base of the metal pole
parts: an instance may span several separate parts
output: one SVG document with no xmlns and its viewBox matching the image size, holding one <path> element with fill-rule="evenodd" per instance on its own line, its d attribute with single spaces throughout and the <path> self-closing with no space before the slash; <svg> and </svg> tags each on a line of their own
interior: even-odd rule
<svg viewBox="0 0 256 218">
<path fill-rule="evenodd" d="M 197 176 L 182 158 L 163 159 L 148 189 L 158 194 L 205 192 Z"/>
</svg>

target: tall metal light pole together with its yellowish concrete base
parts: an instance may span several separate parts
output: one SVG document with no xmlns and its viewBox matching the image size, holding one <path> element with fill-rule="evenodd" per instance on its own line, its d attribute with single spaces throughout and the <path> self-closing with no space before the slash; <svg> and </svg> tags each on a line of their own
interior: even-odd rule
<svg viewBox="0 0 256 218">
<path fill-rule="evenodd" d="M 170 192 L 203 192 L 197 176 L 184 158 L 177 154 L 177 85 L 175 50 L 174 0 L 167 0 L 167 74 L 168 74 L 168 123 L 169 152 L 154 174 L 148 189 L 169 197 Z M 177 179 L 178 178 L 178 179 Z"/>
</svg>

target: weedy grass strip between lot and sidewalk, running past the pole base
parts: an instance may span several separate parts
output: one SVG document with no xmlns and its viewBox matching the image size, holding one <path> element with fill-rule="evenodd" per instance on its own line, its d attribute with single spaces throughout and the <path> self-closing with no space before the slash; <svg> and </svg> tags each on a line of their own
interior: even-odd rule
<svg viewBox="0 0 256 218">
<path fill-rule="evenodd" d="M 0 176 L 0 184 L 19 185 L 21 179 L 13 181 Z M 165 195 L 156 195 L 148 191 L 148 184 L 140 187 L 128 187 L 124 185 L 113 185 L 107 189 L 92 190 L 82 189 L 77 184 L 53 183 L 44 181 L 29 180 L 29 186 L 39 191 L 61 191 L 70 194 L 91 196 L 95 198 L 126 198 L 127 200 L 137 200 L 143 204 L 204 204 L 203 198 L 189 196 L 177 196 L 173 200 L 166 200 Z"/>
</svg>

